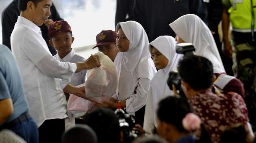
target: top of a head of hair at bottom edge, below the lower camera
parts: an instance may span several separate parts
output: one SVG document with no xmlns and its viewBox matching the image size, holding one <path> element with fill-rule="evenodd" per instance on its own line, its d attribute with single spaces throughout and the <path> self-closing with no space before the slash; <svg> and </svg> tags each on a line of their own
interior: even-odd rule
<svg viewBox="0 0 256 143">
<path fill-rule="evenodd" d="M 134 139 L 132 143 L 168 143 L 165 139 L 160 136 L 144 136 Z"/>
</svg>

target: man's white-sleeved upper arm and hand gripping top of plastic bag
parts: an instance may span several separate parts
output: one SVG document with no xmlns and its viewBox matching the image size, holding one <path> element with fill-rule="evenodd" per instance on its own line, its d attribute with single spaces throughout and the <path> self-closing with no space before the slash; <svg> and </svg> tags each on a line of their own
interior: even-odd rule
<svg viewBox="0 0 256 143">
<path fill-rule="evenodd" d="M 65 63 L 57 61 L 40 41 L 35 38 L 31 31 L 24 33 L 24 39 L 20 41 L 24 45 L 24 53 L 37 66 L 37 68 L 49 77 L 59 79 L 69 79 L 73 73 L 92 69 L 100 66 L 98 58 L 91 55 L 85 62 L 82 63 Z M 29 43 L 29 44 L 28 44 Z"/>
</svg>

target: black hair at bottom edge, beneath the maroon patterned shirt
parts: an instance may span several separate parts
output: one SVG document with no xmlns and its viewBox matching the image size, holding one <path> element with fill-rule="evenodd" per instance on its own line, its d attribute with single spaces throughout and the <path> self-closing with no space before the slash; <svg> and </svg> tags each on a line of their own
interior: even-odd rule
<svg viewBox="0 0 256 143">
<path fill-rule="evenodd" d="M 244 125 L 231 127 L 223 132 L 220 143 L 247 143 L 246 136 L 247 132 Z"/>
</svg>

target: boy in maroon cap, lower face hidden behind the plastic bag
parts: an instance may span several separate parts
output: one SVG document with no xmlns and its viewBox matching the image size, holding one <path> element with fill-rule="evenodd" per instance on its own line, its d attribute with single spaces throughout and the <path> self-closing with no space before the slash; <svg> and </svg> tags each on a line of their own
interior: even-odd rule
<svg viewBox="0 0 256 143">
<path fill-rule="evenodd" d="M 107 55 L 114 61 L 118 48 L 116 47 L 116 32 L 112 30 L 102 30 L 96 36 L 97 44 L 93 47 L 98 47 L 99 51 Z"/>
</svg>

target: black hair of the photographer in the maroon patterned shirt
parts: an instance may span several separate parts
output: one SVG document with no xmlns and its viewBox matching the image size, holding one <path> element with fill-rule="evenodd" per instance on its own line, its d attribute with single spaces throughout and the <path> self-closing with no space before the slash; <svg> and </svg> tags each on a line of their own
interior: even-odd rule
<svg viewBox="0 0 256 143">
<path fill-rule="evenodd" d="M 184 56 L 179 61 L 178 73 L 196 91 L 210 88 L 213 82 L 212 63 L 202 56 Z"/>
</svg>

